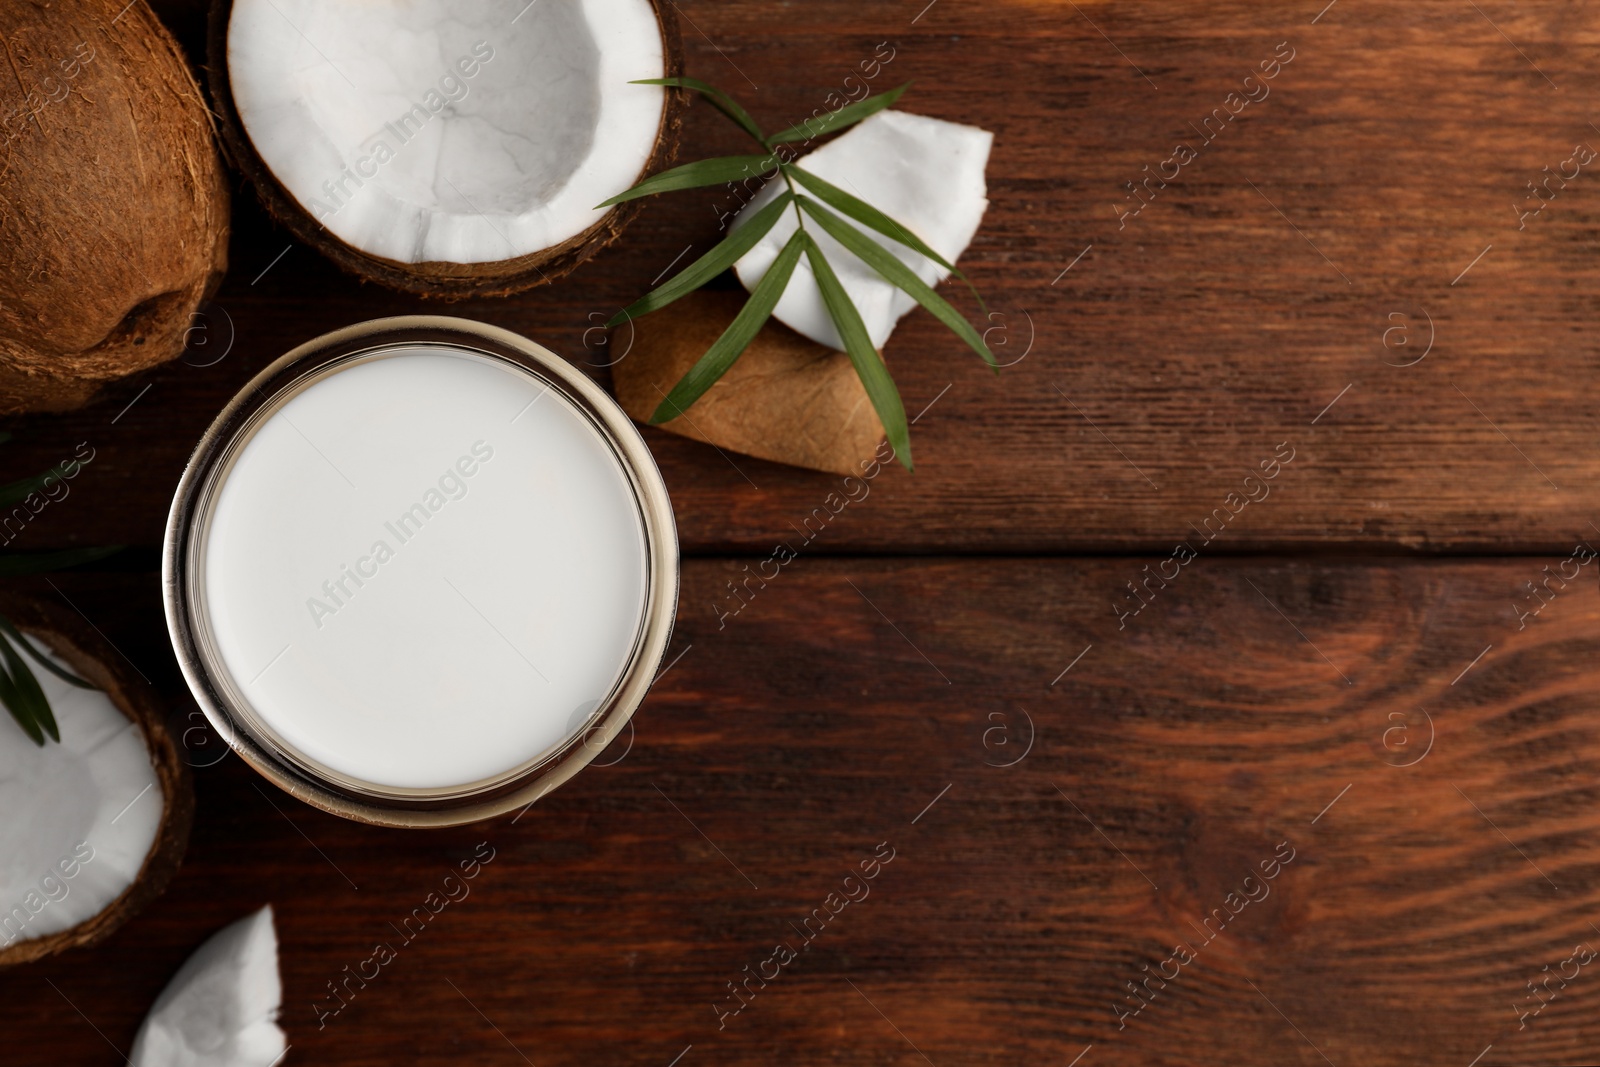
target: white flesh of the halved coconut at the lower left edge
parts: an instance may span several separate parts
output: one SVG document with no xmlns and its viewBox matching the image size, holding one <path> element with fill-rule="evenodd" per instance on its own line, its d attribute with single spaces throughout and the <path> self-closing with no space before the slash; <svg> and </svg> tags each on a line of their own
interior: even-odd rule
<svg viewBox="0 0 1600 1067">
<path fill-rule="evenodd" d="M 0 712 L 0 949 L 106 910 L 139 877 L 165 805 L 139 726 L 104 693 L 32 669 L 61 744 L 38 747 Z"/>
</svg>

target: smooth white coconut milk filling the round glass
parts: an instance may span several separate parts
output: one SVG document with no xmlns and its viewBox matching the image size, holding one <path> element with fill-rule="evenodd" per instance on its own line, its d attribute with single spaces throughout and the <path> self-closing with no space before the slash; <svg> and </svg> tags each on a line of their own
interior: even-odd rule
<svg viewBox="0 0 1600 1067">
<path fill-rule="evenodd" d="M 203 605 L 275 739 L 440 790 L 581 733 L 627 667 L 646 534 L 613 448 L 522 368 L 411 344 L 250 437 L 206 528 Z"/>
</svg>

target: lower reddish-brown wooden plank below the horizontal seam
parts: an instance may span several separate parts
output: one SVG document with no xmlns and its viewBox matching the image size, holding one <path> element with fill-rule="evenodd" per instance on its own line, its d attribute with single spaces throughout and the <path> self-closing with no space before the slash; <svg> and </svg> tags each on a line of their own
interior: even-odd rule
<svg viewBox="0 0 1600 1067">
<path fill-rule="evenodd" d="M 718 629 L 741 565 L 694 561 L 632 747 L 520 821 L 379 830 L 198 769 L 166 896 L 0 974 L 6 1061 L 117 1062 L 184 955 L 270 901 L 296 1062 L 1590 1064 L 1590 969 L 1526 1029 L 1514 1006 L 1600 945 L 1600 598 L 1576 568 L 1518 630 L 1539 566 L 1202 558 L 1118 630 L 1128 560 L 800 558 Z M 154 579 L 56 581 L 176 689 Z M 470 897 L 318 1032 L 478 841 Z M 726 982 L 880 841 L 870 896 L 718 1032 Z M 1270 896 L 1202 944 L 1280 841 Z"/>
</svg>

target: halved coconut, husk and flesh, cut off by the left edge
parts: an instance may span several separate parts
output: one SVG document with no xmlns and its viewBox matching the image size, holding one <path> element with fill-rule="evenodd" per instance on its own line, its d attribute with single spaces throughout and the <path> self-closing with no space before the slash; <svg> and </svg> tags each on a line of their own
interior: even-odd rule
<svg viewBox="0 0 1600 1067">
<path fill-rule="evenodd" d="M 56 664 L 37 664 L 61 742 L 35 745 L 0 717 L 0 966 L 107 937 L 155 897 L 182 859 L 194 795 L 147 689 L 104 638 L 45 605 L 6 597 L 0 613 Z"/>
</svg>

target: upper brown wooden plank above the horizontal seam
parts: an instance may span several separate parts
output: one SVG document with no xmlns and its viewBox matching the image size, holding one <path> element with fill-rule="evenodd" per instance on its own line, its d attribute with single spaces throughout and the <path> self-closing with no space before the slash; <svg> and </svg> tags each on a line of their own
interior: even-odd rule
<svg viewBox="0 0 1600 1067">
<path fill-rule="evenodd" d="M 886 354 L 907 411 L 938 400 L 914 430 L 918 472 L 885 478 L 819 550 L 1163 550 L 1283 440 L 1304 469 L 1229 533 L 1234 550 L 1557 550 L 1587 530 L 1600 176 L 1581 173 L 1522 230 L 1514 206 L 1574 144 L 1600 147 L 1600 11 L 1339 0 L 1314 24 L 1318 8 L 680 5 L 690 70 L 768 123 L 822 106 L 890 42 L 875 88 L 912 80 L 907 109 L 997 134 L 992 206 L 963 266 L 1002 315 L 989 325 L 1006 326 L 990 342 L 1027 357 L 995 379 L 930 317 L 909 317 Z M 1280 42 L 1294 59 L 1270 96 L 1118 229 L 1123 182 L 1198 141 L 1189 123 Z M 736 149 L 725 120 L 691 109 L 685 158 Z M 27 461 L 82 440 L 101 456 L 72 520 L 40 518 L 30 544 L 157 544 L 187 448 L 251 371 L 317 333 L 424 307 L 339 277 L 238 202 L 232 277 L 192 362 L 232 338 L 227 357 L 21 426 Z M 653 200 L 624 245 L 562 285 L 450 307 L 605 379 L 627 338 L 603 346 L 595 326 L 686 248 L 704 251 L 728 206 L 722 190 Z M 1429 355 L 1386 365 L 1426 349 L 1426 317 Z M 1386 349 L 1394 326 L 1408 333 Z M 691 552 L 763 552 L 834 488 L 648 437 Z"/>
</svg>

